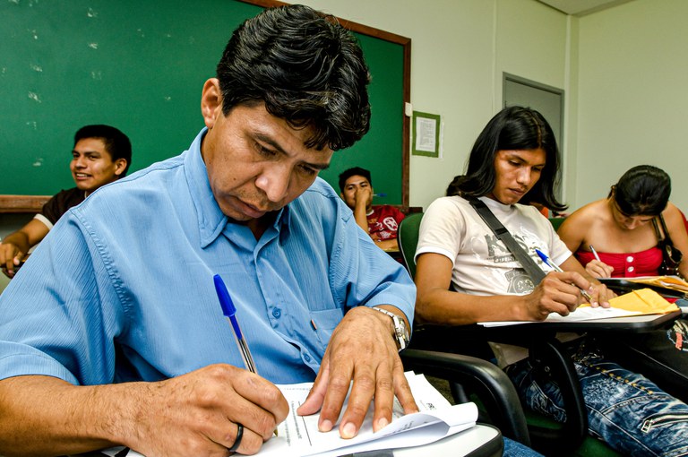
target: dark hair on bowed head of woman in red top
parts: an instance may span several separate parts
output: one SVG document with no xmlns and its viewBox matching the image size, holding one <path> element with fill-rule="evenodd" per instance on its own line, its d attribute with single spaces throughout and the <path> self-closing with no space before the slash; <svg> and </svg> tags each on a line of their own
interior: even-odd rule
<svg viewBox="0 0 688 457">
<path fill-rule="evenodd" d="M 609 192 L 626 216 L 658 216 L 667 208 L 671 178 L 661 168 L 638 165 L 626 171 Z"/>
</svg>

